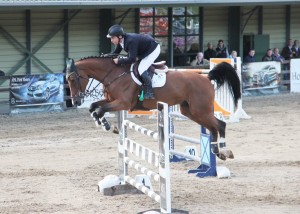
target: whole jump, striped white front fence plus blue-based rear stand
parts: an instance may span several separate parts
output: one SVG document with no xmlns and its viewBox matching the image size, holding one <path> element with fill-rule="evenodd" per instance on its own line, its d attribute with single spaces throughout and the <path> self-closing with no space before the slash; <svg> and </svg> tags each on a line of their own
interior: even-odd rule
<svg viewBox="0 0 300 214">
<path fill-rule="evenodd" d="M 170 131 L 170 121 L 174 117 L 182 117 L 178 113 L 169 112 L 169 107 L 166 103 L 159 102 L 157 105 L 157 129 L 158 133 L 149 129 L 143 128 L 126 119 L 126 112 L 122 111 L 118 114 L 119 117 L 119 142 L 118 142 L 118 161 L 119 161 L 119 176 L 108 179 L 106 186 L 104 182 L 99 182 L 99 190 L 117 188 L 119 186 L 131 185 L 140 190 L 151 199 L 160 203 L 161 213 L 171 213 L 171 186 L 170 186 L 170 160 L 171 157 L 181 156 L 188 159 L 198 161 L 200 166 L 197 169 L 189 170 L 189 173 L 195 173 L 199 177 L 216 176 L 216 157 L 212 154 L 210 149 L 210 135 L 205 133 L 202 129 L 201 138 L 193 139 L 190 137 L 175 134 Z M 172 124 L 173 125 L 173 124 Z M 135 130 L 145 136 L 158 140 L 159 152 L 134 142 L 128 137 L 127 129 Z M 184 140 L 189 143 L 201 145 L 201 157 L 189 155 L 174 149 L 174 139 Z M 158 172 L 152 171 L 147 167 L 138 163 L 137 160 L 130 159 L 129 154 L 136 156 L 139 161 L 149 163 L 154 167 L 158 167 Z M 128 174 L 129 167 L 136 169 L 139 173 L 148 176 L 147 179 L 159 182 L 159 191 L 154 191 L 152 187 L 147 186 L 145 182 L 138 181 L 137 178 L 132 178 Z M 114 180 L 115 183 L 110 182 Z M 102 182 L 102 183 L 101 183 Z M 122 193 L 126 193 L 126 189 Z M 129 193 L 127 189 L 127 193 Z"/>
</svg>

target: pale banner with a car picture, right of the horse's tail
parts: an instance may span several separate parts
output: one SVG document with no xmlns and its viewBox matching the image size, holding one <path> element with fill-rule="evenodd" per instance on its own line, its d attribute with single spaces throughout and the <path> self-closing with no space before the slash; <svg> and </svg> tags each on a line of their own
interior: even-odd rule
<svg viewBox="0 0 300 214">
<path fill-rule="evenodd" d="M 242 65 L 244 95 L 279 93 L 280 62 L 252 62 Z"/>
</svg>

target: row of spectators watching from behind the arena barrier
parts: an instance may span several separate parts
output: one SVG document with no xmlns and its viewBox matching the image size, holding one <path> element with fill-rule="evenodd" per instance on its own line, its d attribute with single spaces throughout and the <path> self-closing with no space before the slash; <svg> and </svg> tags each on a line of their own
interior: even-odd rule
<svg viewBox="0 0 300 214">
<path fill-rule="evenodd" d="M 232 50 L 229 54 L 224 41 L 220 39 L 218 41 L 217 47 L 214 49 L 211 42 L 207 43 L 207 49 L 204 52 L 199 52 L 198 46 L 192 45 L 191 49 L 187 52 L 189 57 L 185 60 L 183 57 L 174 58 L 174 66 L 177 65 L 209 65 L 210 58 L 232 58 L 236 62 L 237 52 Z M 175 49 L 174 53 L 178 53 L 178 49 Z M 300 47 L 299 40 L 289 39 L 286 46 L 282 49 L 281 54 L 278 47 L 273 49 L 268 49 L 265 55 L 262 57 L 261 61 L 278 61 L 281 63 L 288 62 L 290 59 L 300 58 Z M 178 59 L 181 60 L 178 62 Z M 250 49 L 248 55 L 244 57 L 244 63 L 256 62 L 258 61 L 255 57 L 255 50 Z M 260 61 L 260 60 L 259 60 Z"/>
</svg>

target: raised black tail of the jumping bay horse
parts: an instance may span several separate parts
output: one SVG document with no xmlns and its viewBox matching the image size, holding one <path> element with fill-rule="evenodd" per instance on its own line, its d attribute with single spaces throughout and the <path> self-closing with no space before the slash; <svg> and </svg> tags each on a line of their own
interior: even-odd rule
<svg viewBox="0 0 300 214">
<path fill-rule="evenodd" d="M 216 65 L 208 73 L 208 78 L 217 83 L 217 88 L 220 88 L 225 82 L 227 82 L 234 99 L 234 104 L 237 106 L 237 102 L 241 98 L 241 85 L 236 70 L 230 64 L 222 62 Z"/>
</svg>

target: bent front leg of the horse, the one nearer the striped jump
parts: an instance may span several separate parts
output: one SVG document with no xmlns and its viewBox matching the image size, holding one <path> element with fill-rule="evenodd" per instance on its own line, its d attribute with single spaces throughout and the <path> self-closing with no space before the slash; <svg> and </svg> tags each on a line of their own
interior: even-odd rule
<svg viewBox="0 0 300 214">
<path fill-rule="evenodd" d="M 122 100 L 114 100 L 112 102 L 107 102 L 105 105 L 100 106 L 97 112 L 97 116 L 100 118 L 100 122 L 102 125 L 103 130 L 109 131 L 110 130 L 110 123 L 104 117 L 106 112 L 110 111 L 121 111 L 130 108 L 131 103 L 122 101 Z"/>
</svg>

